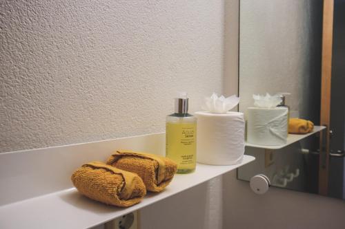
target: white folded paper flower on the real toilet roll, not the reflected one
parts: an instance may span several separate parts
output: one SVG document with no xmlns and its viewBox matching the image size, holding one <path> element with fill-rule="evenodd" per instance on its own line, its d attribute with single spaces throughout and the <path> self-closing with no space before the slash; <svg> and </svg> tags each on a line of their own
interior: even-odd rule
<svg viewBox="0 0 345 229">
<path fill-rule="evenodd" d="M 205 98 L 205 103 L 201 108 L 210 113 L 226 113 L 236 107 L 238 103 L 239 97 L 235 95 L 225 98 L 224 96 L 218 97 L 213 93 L 212 96 Z"/>
</svg>

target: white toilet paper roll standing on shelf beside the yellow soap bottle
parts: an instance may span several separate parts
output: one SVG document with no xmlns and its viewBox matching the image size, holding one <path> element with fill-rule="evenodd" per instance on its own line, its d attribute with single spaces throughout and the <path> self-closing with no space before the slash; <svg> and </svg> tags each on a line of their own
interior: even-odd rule
<svg viewBox="0 0 345 229">
<path fill-rule="evenodd" d="M 199 111 L 197 116 L 197 162 L 230 165 L 244 155 L 244 114 Z"/>
</svg>

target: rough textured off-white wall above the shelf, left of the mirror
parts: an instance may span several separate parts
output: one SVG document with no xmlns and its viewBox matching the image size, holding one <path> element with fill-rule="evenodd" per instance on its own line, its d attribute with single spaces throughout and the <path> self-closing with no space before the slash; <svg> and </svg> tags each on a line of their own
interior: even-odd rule
<svg viewBox="0 0 345 229">
<path fill-rule="evenodd" d="M 165 130 L 221 92 L 224 2 L 0 2 L 0 152 Z"/>
</svg>

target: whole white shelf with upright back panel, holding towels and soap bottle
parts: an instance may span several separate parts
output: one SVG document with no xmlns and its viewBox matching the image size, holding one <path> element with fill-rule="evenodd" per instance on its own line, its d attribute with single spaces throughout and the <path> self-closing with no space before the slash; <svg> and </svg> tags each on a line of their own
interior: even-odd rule
<svg viewBox="0 0 345 229">
<path fill-rule="evenodd" d="M 165 133 L 119 138 L 70 146 L 0 153 L 0 228 L 90 228 L 197 186 L 252 162 L 231 166 L 197 164 L 195 173 L 176 175 L 161 193 L 148 195 L 135 206 L 117 208 L 83 197 L 70 175 L 90 161 L 106 161 L 116 149 L 164 155 Z"/>
</svg>

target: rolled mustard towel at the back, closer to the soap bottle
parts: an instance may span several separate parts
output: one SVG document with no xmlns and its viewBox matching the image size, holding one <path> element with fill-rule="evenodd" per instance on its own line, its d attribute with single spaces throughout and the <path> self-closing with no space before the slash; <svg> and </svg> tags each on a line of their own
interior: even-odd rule
<svg viewBox="0 0 345 229">
<path fill-rule="evenodd" d="M 116 151 L 107 164 L 137 173 L 146 189 L 152 192 L 160 192 L 168 186 L 177 171 L 177 164 L 166 157 L 128 150 Z"/>
</svg>

